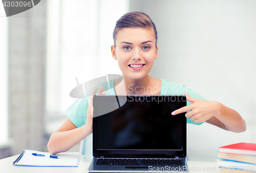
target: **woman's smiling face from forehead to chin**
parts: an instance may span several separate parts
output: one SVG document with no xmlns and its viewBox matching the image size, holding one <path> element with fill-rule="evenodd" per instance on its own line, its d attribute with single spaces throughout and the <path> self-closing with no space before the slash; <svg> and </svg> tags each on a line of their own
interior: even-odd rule
<svg viewBox="0 0 256 173">
<path fill-rule="evenodd" d="M 148 75 L 157 52 L 154 30 L 148 28 L 123 28 L 116 36 L 116 46 L 112 46 L 122 74 L 132 79 Z"/>
</svg>

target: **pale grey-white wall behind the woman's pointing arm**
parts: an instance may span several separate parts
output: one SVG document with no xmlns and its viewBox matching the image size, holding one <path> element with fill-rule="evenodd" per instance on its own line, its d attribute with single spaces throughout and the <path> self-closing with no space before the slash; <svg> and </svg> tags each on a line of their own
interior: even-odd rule
<svg viewBox="0 0 256 173">
<path fill-rule="evenodd" d="M 137 1 L 158 31 L 159 55 L 151 75 L 193 87 L 245 119 L 236 134 L 203 124 L 188 124 L 190 160 L 214 161 L 219 146 L 256 142 L 256 1 Z"/>
</svg>

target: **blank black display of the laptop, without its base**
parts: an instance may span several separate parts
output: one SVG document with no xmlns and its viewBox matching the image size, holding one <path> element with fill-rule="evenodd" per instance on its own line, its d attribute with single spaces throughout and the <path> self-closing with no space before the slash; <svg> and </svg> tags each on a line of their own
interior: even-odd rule
<svg viewBox="0 0 256 173">
<path fill-rule="evenodd" d="M 183 107 L 184 101 L 119 98 L 122 106 L 115 110 L 116 103 L 115 99 L 97 102 L 97 110 L 114 110 L 93 120 L 97 121 L 97 150 L 182 150 L 184 115 L 171 113 Z"/>
</svg>

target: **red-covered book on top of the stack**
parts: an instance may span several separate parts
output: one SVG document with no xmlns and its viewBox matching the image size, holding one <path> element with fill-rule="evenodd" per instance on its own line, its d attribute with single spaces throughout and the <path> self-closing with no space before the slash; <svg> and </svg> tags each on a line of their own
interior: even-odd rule
<svg viewBox="0 0 256 173">
<path fill-rule="evenodd" d="M 256 144 L 255 143 L 236 143 L 232 145 L 221 146 L 219 147 L 219 152 L 256 156 Z"/>
</svg>

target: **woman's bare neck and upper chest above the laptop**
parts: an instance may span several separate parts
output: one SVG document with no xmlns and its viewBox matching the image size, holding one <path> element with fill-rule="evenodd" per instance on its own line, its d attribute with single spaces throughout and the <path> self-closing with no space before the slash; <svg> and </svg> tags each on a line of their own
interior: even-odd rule
<svg viewBox="0 0 256 173">
<path fill-rule="evenodd" d="M 117 95 L 158 95 L 161 91 L 161 80 L 149 75 L 140 79 L 123 75 L 123 78 L 115 80 L 115 91 Z"/>
</svg>

